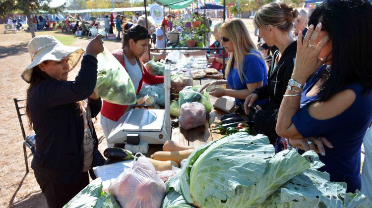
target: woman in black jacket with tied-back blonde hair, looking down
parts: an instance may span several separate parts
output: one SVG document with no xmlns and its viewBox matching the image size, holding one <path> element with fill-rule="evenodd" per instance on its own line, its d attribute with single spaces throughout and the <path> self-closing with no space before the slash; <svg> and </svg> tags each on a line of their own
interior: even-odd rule
<svg viewBox="0 0 372 208">
<path fill-rule="evenodd" d="M 268 84 L 257 88 L 244 103 L 248 114 L 249 108 L 257 101 L 269 99 L 268 104 L 256 106 L 258 111 L 254 116 L 254 130 L 269 137 L 270 144 L 274 144 L 279 137 L 275 132 L 279 106 L 286 92 L 288 80 L 294 67 L 297 42 L 290 32 L 292 21 L 298 12 L 284 3 L 269 3 L 260 8 L 254 15 L 253 24 L 260 31 L 260 36 L 268 46 L 277 46 L 268 73 Z"/>
</svg>

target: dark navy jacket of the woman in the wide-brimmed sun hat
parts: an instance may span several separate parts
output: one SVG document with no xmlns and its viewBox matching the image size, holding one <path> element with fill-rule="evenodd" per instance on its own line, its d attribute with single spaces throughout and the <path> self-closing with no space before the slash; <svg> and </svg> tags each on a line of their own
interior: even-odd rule
<svg viewBox="0 0 372 208">
<path fill-rule="evenodd" d="M 97 81 L 97 59 L 84 55 L 75 81 L 58 81 L 44 75 L 28 95 L 35 131 L 36 151 L 32 169 L 55 183 L 76 181 L 83 169 L 84 120 L 76 102 L 87 99 Z M 88 99 L 92 117 L 101 99 Z M 93 128 L 93 136 L 96 136 Z"/>
</svg>

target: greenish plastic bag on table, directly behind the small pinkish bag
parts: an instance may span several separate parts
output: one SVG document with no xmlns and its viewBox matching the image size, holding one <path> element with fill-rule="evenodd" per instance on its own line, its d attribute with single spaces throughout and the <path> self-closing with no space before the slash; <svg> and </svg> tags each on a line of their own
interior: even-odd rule
<svg viewBox="0 0 372 208">
<path fill-rule="evenodd" d="M 199 93 L 202 86 L 195 87 L 188 86 L 180 91 L 180 98 L 171 104 L 171 115 L 180 117 L 181 106 L 186 103 L 198 102 L 204 105 L 206 113 L 209 113 L 213 105 L 209 101 L 209 94 L 206 90 Z"/>
</svg>

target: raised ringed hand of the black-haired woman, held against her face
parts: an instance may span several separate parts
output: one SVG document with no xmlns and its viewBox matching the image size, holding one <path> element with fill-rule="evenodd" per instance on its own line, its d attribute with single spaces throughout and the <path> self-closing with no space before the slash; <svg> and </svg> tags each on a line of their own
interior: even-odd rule
<svg viewBox="0 0 372 208">
<path fill-rule="evenodd" d="M 305 80 L 325 63 L 325 60 L 319 58 L 320 51 L 329 41 L 328 35 L 325 35 L 319 43 L 316 43 L 319 32 L 321 30 L 321 23 L 316 26 L 310 25 L 309 31 L 306 33 L 304 40 L 302 40 L 302 31 L 299 32 L 297 41 L 297 53 L 295 68 L 293 69 L 293 78 Z M 294 76 L 295 75 L 295 76 Z M 301 83 L 304 84 L 304 83 Z"/>
</svg>

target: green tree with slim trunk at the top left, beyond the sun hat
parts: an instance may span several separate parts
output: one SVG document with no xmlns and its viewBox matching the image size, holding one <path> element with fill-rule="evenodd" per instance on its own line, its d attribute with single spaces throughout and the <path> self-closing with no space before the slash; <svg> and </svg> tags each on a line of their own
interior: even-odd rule
<svg viewBox="0 0 372 208">
<path fill-rule="evenodd" d="M 62 5 L 57 8 L 51 8 L 49 3 L 51 0 L 1 0 L 0 1 L 0 16 L 5 17 L 7 14 L 19 12 L 27 16 L 27 24 L 29 25 L 32 38 L 35 37 L 34 27 L 32 27 L 31 14 L 36 15 L 40 11 L 50 13 L 58 13 L 65 8 Z"/>
</svg>

